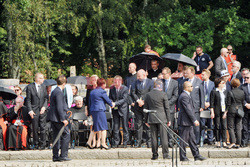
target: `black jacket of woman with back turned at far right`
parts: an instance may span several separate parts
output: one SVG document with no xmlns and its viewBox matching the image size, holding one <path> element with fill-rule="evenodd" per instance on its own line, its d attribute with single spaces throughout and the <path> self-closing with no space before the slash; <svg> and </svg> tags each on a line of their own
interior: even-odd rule
<svg viewBox="0 0 250 167">
<path fill-rule="evenodd" d="M 243 90 L 239 88 L 234 88 L 233 90 L 231 90 L 231 92 L 233 93 L 235 101 L 231 93 L 229 92 L 227 94 L 226 111 L 228 111 L 228 113 L 236 113 L 236 106 L 239 106 L 243 109 L 245 94 Z"/>
</svg>

